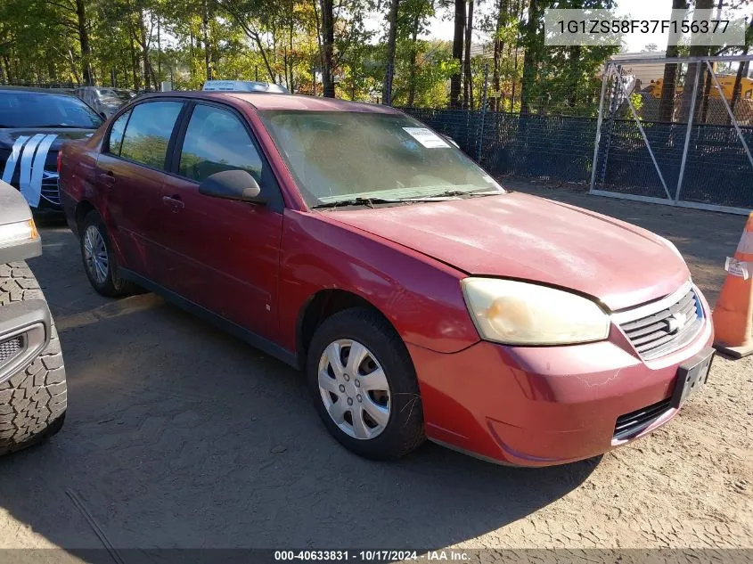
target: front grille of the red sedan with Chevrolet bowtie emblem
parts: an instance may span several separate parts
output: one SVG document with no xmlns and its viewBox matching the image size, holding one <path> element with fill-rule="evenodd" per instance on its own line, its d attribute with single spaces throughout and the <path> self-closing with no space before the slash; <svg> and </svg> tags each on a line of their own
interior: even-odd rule
<svg viewBox="0 0 753 564">
<path fill-rule="evenodd" d="M 620 327 L 645 360 L 667 355 L 688 344 L 703 325 L 703 310 L 691 289 L 668 307 Z"/>
</svg>

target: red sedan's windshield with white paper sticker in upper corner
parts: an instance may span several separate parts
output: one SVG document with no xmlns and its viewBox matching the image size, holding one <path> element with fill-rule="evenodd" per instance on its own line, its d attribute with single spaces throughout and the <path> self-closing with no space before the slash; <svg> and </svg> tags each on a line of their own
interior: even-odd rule
<svg viewBox="0 0 753 564">
<path fill-rule="evenodd" d="M 309 207 L 503 192 L 462 151 L 404 115 L 268 110 L 262 119 Z"/>
</svg>

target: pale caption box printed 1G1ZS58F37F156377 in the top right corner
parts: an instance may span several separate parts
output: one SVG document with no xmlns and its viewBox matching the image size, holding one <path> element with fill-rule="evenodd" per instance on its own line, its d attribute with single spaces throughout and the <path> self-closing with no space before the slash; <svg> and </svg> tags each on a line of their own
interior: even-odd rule
<svg viewBox="0 0 753 564">
<path fill-rule="evenodd" d="M 746 12 L 741 7 L 713 10 L 657 10 L 652 4 L 626 3 L 612 10 L 544 10 L 546 45 L 745 45 Z"/>
</svg>

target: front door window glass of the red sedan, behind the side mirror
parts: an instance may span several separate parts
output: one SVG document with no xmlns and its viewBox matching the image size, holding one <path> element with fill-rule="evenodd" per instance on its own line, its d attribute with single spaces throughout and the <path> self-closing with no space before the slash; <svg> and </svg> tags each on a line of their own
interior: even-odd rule
<svg viewBox="0 0 753 564">
<path fill-rule="evenodd" d="M 248 131 L 233 112 L 197 104 L 185 131 L 178 174 L 201 183 L 216 172 L 238 169 L 261 184 L 262 159 Z"/>
</svg>

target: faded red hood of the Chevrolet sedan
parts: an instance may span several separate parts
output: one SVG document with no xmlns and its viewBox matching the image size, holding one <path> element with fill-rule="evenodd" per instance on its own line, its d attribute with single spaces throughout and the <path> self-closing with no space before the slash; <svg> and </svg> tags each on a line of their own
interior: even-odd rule
<svg viewBox="0 0 753 564">
<path fill-rule="evenodd" d="M 467 274 L 577 290 L 612 311 L 664 297 L 690 278 L 658 235 L 523 193 L 324 213 Z"/>
</svg>

